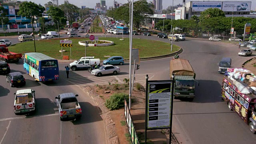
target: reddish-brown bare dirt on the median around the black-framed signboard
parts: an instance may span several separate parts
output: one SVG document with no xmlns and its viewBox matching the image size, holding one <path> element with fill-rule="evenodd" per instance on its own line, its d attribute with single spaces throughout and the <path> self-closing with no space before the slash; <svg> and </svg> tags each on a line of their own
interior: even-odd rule
<svg viewBox="0 0 256 144">
<path fill-rule="evenodd" d="M 97 85 L 97 86 L 90 86 L 91 89 L 88 90 L 96 92 L 89 92 L 92 94 L 92 97 L 95 95 L 102 98 L 104 101 L 108 99 L 113 93 L 129 93 L 129 87 L 127 84 L 120 84 L 118 88 L 116 87 L 116 83 L 112 83 L 111 85 Z M 116 89 L 117 88 L 117 89 Z M 138 137 L 140 138 L 141 142 L 144 142 L 144 126 L 145 126 L 145 104 L 146 104 L 146 96 L 144 92 L 144 88 L 140 88 L 137 90 L 134 86 L 132 92 L 132 99 L 134 102 L 132 103 L 132 109 L 130 110 L 132 114 L 132 119 L 134 120 L 134 125 L 136 127 L 136 132 L 138 133 Z M 90 95 L 91 96 L 91 95 Z M 100 105 L 100 108 L 103 104 Z M 105 107 L 105 106 L 104 106 Z M 102 110 L 104 113 L 106 110 Z M 111 116 L 110 116 L 111 113 Z M 106 120 L 106 124 L 109 125 L 110 128 L 115 127 L 116 135 L 118 136 L 118 140 L 120 144 L 130 144 L 130 138 L 128 135 L 128 127 L 126 124 L 126 119 L 124 116 L 124 107 L 119 108 L 117 110 L 112 110 L 110 112 L 106 112 L 104 114 L 104 118 Z M 114 120 L 114 124 L 111 124 L 111 120 Z M 110 125 L 111 124 L 111 125 Z M 114 136 L 111 133 L 108 134 L 108 137 Z M 169 136 L 170 130 L 148 130 L 147 132 L 147 143 L 148 144 L 169 144 Z M 111 139 L 112 141 L 116 141 L 115 138 Z M 110 140 L 110 141 L 111 141 Z M 176 139 L 172 135 L 172 142 L 171 144 L 178 144 Z"/>
</svg>

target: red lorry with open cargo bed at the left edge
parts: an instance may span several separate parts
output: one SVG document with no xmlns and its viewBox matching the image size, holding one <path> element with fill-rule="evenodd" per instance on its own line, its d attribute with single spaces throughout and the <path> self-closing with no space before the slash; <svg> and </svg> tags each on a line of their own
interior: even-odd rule
<svg viewBox="0 0 256 144">
<path fill-rule="evenodd" d="M 6 62 L 18 62 L 22 58 L 22 54 L 10 52 L 5 44 L 0 44 L 0 60 Z"/>
</svg>

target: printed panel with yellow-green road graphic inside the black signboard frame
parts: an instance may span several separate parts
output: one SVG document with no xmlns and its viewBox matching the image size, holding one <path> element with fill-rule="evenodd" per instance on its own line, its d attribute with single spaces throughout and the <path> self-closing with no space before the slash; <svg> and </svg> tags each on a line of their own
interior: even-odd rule
<svg viewBox="0 0 256 144">
<path fill-rule="evenodd" d="M 148 82 L 147 128 L 170 127 L 172 82 Z"/>
</svg>

